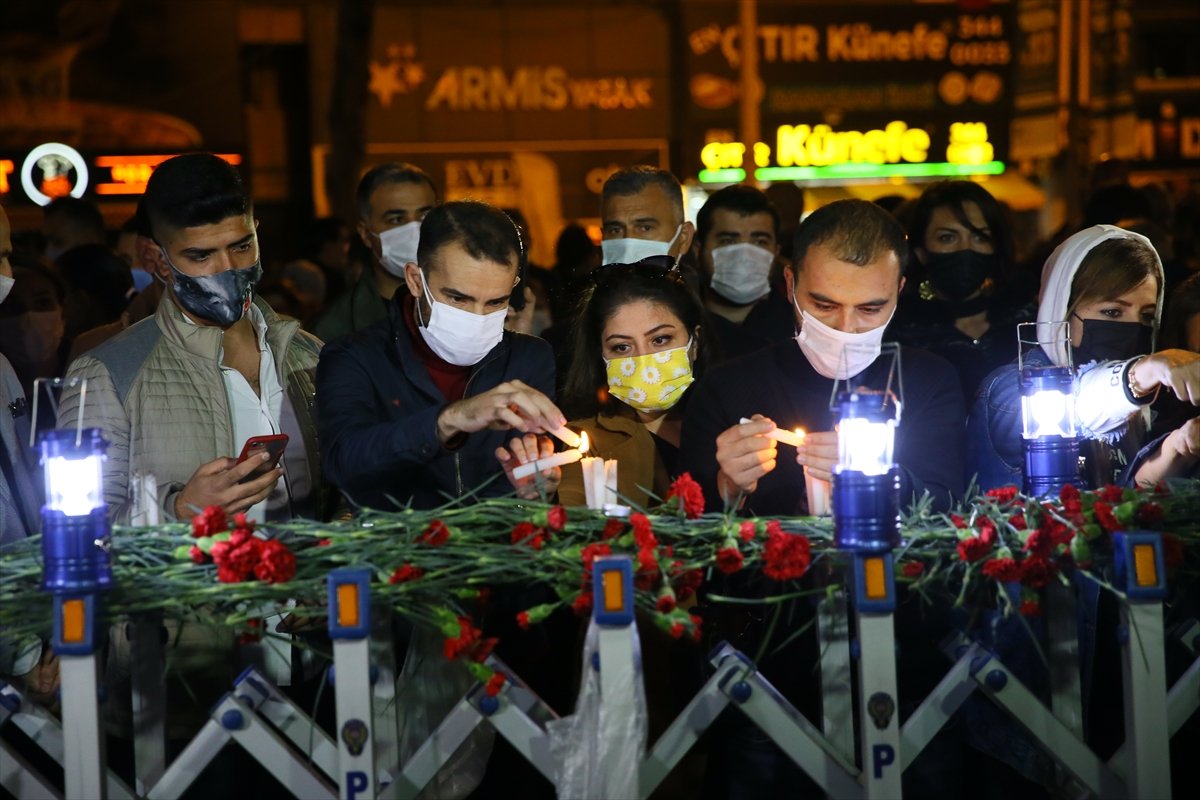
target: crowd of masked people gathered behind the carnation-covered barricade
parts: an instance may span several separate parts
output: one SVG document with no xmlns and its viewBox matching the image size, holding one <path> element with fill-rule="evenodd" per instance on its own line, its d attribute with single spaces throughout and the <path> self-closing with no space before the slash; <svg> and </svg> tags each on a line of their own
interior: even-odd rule
<svg viewBox="0 0 1200 800">
<path fill-rule="evenodd" d="M 318 221 L 305 258 L 265 271 L 246 187 L 210 155 L 163 162 L 112 247 L 86 200 L 48 205 L 41 236 L 0 209 L 0 541 L 37 531 L 29 409 L 35 379 L 55 377 L 58 421 L 36 425 L 82 410 L 103 432 L 119 523 L 144 475 L 167 521 L 211 505 L 270 523 L 514 493 L 582 504 L 577 464 L 514 475 L 563 425 L 618 459 L 626 503 L 689 473 L 710 511 L 806 515 L 805 482 L 830 480 L 838 458 L 834 381 L 883 389 L 887 342 L 904 375 L 904 498 L 946 510 L 973 481 L 1021 482 L 1016 325 L 1031 321 L 1066 323 L 1024 359 L 1078 371 L 1084 480 L 1198 471 L 1200 264 L 1160 193 L 1103 187 L 1085 225 L 1019 246 L 1008 210 L 971 181 L 803 218 L 797 192 L 730 186 L 692 223 L 672 174 L 625 168 L 604 185 L 601 241 L 569 224 L 548 269 L 529 263 L 520 213 L 443 201 L 404 163 L 367 172 L 358 219 Z M 775 427 L 809 434 L 780 447 Z M 278 463 L 236 459 L 277 434 Z M 763 636 L 752 619 L 713 627 L 739 646 Z M 799 637 L 779 656 L 802 709 L 815 646 Z M 796 786 L 774 745 L 731 724 L 707 792 Z"/>
</svg>

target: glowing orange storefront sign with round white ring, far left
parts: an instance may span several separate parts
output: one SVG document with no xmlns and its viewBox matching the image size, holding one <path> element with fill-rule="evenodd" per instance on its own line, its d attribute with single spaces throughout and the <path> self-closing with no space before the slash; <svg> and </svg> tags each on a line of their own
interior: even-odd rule
<svg viewBox="0 0 1200 800">
<path fill-rule="evenodd" d="M 59 197 L 138 196 L 155 167 L 178 154 L 140 156 L 95 156 L 85 158 L 74 148 L 47 143 L 34 148 L 24 158 L 0 158 L 0 199 L 7 198 L 19 184 L 30 200 L 46 205 Z M 230 164 L 240 164 L 236 154 L 217 154 Z M 20 163 L 18 172 L 17 163 Z M 19 196 L 18 196 L 19 197 Z"/>
</svg>

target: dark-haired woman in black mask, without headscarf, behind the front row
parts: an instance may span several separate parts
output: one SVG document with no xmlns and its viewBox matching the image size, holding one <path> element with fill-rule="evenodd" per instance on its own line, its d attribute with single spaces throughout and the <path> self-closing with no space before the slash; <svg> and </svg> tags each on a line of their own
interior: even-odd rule
<svg viewBox="0 0 1200 800">
<path fill-rule="evenodd" d="M 908 241 L 910 283 L 888 333 L 954 365 L 970 403 L 989 372 L 1016 357 L 1016 324 L 1033 319 L 1032 293 L 1015 285 L 1008 212 L 979 184 L 934 184 Z"/>
</svg>

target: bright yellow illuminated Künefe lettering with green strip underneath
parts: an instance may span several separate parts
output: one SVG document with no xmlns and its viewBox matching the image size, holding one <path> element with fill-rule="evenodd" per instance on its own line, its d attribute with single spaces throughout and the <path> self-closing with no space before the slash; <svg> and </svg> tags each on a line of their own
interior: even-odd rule
<svg viewBox="0 0 1200 800">
<path fill-rule="evenodd" d="M 953 122 L 944 161 L 930 161 L 932 139 L 928 131 L 893 120 L 868 131 L 835 131 L 828 125 L 781 125 L 775 145 L 756 142 L 710 142 L 701 150 L 704 184 L 745 179 L 749 160 L 755 178 L 770 180 L 833 180 L 878 178 L 943 178 L 998 175 L 1004 164 L 995 161 L 984 122 Z"/>
</svg>

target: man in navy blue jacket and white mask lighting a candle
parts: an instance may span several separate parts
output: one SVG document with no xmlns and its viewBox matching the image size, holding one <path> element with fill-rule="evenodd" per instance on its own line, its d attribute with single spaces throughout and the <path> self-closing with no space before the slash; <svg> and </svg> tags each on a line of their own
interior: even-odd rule
<svg viewBox="0 0 1200 800">
<path fill-rule="evenodd" d="M 325 347 L 317 369 L 324 467 L 356 506 L 432 509 L 516 487 L 512 467 L 553 451 L 566 420 L 551 397 L 546 342 L 504 330 L 521 239 L 484 203 L 446 203 L 421 222 L 388 318 Z M 505 444 L 510 437 L 515 438 Z M 553 493 L 559 470 L 542 474 Z M 505 480 L 508 477 L 508 480 Z"/>
</svg>

